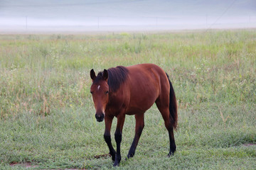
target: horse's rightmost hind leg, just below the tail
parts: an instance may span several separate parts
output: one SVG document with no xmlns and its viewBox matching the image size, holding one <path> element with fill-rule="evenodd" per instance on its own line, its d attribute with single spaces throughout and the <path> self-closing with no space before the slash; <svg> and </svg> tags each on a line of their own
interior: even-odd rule
<svg viewBox="0 0 256 170">
<path fill-rule="evenodd" d="M 173 125 L 171 124 L 168 102 L 169 102 L 168 98 L 166 100 L 163 100 L 163 98 L 158 98 L 156 100 L 156 106 L 159 109 L 162 117 L 164 118 L 164 125 L 166 126 L 166 129 L 169 132 L 170 151 L 168 156 L 170 157 L 176 151 L 176 144 L 174 140 L 174 128 L 173 128 Z"/>
</svg>

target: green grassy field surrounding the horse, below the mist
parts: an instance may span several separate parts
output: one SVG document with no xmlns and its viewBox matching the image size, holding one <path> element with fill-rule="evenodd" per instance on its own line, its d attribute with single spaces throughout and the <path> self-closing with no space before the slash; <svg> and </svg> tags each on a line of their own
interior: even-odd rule
<svg viewBox="0 0 256 170">
<path fill-rule="evenodd" d="M 135 127 L 127 115 L 114 169 L 256 169 L 256 30 L 0 35 L 0 169 L 112 169 L 90 69 L 148 62 L 176 92 L 177 151 L 166 157 L 168 133 L 153 106 L 125 161 Z"/>
</svg>

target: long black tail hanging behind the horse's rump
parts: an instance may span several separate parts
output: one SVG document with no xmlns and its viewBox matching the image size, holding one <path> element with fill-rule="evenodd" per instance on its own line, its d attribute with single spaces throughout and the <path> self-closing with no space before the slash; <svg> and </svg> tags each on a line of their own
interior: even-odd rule
<svg viewBox="0 0 256 170">
<path fill-rule="evenodd" d="M 177 106 L 177 101 L 176 101 L 176 97 L 175 97 L 175 93 L 174 93 L 174 87 L 172 86 L 167 73 L 166 73 L 166 76 L 167 76 L 167 78 L 169 80 L 169 84 L 170 84 L 170 95 L 169 95 L 170 119 L 171 119 L 171 123 L 172 123 L 174 129 L 176 129 L 177 125 L 178 125 L 178 113 L 177 113 L 178 106 Z"/>
</svg>

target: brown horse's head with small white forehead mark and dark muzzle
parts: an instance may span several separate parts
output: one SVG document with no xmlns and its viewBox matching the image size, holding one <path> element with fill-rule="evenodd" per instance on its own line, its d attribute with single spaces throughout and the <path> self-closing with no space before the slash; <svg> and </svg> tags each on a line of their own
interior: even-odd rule
<svg viewBox="0 0 256 170">
<path fill-rule="evenodd" d="M 95 118 L 98 122 L 102 122 L 105 116 L 105 109 L 109 100 L 109 86 L 107 84 L 108 73 L 104 69 L 103 72 L 95 75 L 93 69 L 90 71 L 90 77 L 92 79 L 92 86 L 90 88 L 90 93 L 92 94 L 92 99 L 95 104 Z"/>
</svg>

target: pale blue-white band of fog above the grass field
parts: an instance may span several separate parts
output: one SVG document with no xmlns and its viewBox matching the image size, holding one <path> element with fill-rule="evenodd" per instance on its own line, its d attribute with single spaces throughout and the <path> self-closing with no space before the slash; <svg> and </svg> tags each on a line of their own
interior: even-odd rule
<svg viewBox="0 0 256 170">
<path fill-rule="evenodd" d="M 255 0 L 0 0 L 0 33 L 256 28 Z"/>
</svg>

